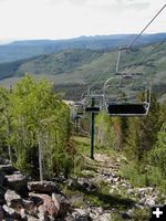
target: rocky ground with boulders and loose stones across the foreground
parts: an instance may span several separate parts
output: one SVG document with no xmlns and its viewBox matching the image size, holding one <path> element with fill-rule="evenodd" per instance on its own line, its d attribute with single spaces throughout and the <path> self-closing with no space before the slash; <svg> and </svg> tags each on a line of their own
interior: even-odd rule
<svg viewBox="0 0 166 221">
<path fill-rule="evenodd" d="M 157 189 L 132 187 L 118 175 L 120 159 L 97 154 L 85 162 L 80 177 L 32 181 L 1 159 L 0 221 L 148 220 L 149 207 L 160 203 Z"/>
</svg>

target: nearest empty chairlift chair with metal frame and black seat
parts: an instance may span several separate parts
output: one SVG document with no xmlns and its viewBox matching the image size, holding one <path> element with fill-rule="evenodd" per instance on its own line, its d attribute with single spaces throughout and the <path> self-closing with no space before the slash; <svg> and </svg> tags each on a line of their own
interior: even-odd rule
<svg viewBox="0 0 166 221">
<path fill-rule="evenodd" d="M 134 76 L 133 76 L 134 77 Z M 137 96 L 141 91 L 134 91 L 132 88 L 134 81 L 127 85 L 121 86 L 122 82 L 125 82 L 126 77 L 116 76 L 110 77 L 104 86 L 104 103 L 106 106 L 107 115 L 110 116 L 145 116 L 149 109 L 151 103 L 151 90 L 144 90 L 143 101 L 138 101 Z M 118 83 L 120 90 L 116 92 L 112 91 L 112 85 L 115 87 L 115 83 Z M 128 82 L 127 82 L 128 83 Z"/>
</svg>

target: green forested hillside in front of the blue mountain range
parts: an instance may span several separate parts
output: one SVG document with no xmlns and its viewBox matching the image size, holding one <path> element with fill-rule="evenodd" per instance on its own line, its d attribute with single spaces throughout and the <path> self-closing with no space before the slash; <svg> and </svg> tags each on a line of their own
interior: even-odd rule
<svg viewBox="0 0 166 221">
<path fill-rule="evenodd" d="M 100 77 L 97 84 L 102 87 L 107 77 L 115 75 L 116 59 L 117 50 L 63 50 L 0 64 L 0 78 L 2 85 L 9 86 L 24 73 L 30 73 L 37 78 L 49 78 L 64 98 L 80 99 L 82 92 L 96 78 Z M 153 90 L 162 101 L 166 93 L 165 69 L 165 42 L 136 46 L 125 52 L 120 63 L 120 72 L 144 74 L 144 81 L 153 84 Z"/>
</svg>

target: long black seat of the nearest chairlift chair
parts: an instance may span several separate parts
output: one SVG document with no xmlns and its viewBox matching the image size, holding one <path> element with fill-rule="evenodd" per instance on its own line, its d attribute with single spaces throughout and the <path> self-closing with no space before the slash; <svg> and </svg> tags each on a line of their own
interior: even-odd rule
<svg viewBox="0 0 166 221">
<path fill-rule="evenodd" d="M 112 116 L 144 116 L 148 107 L 148 103 L 108 103 L 107 112 Z"/>
</svg>

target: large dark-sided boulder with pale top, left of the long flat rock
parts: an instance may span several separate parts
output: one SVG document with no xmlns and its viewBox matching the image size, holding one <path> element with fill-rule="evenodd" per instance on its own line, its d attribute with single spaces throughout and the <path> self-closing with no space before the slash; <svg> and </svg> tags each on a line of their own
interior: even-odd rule
<svg viewBox="0 0 166 221">
<path fill-rule="evenodd" d="M 21 172 L 17 172 L 13 175 L 6 176 L 9 188 L 18 191 L 18 192 L 25 192 L 27 191 L 27 182 L 28 177 L 23 176 Z"/>
</svg>

